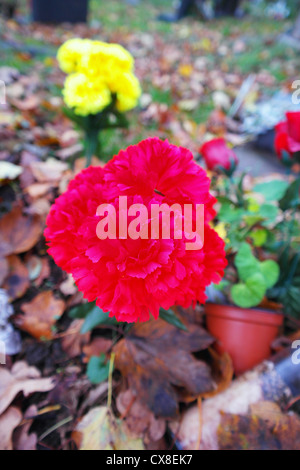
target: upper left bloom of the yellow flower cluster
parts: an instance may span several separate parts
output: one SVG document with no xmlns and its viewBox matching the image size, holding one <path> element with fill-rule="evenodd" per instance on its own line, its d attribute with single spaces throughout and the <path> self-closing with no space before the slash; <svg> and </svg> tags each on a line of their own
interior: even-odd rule
<svg viewBox="0 0 300 470">
<path fill-rule="evenodd" d="M 69 39 L 59 49 L 57 60 L 65 73 L 78 72 L 82 58 L 89 54 L 93 41 L 89 39 Z"/>
</svg>

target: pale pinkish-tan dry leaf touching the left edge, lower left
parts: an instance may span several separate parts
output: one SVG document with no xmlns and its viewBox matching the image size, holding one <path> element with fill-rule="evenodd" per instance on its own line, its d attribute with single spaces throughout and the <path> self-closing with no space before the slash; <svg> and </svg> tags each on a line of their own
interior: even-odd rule
<svg viewBox="0 0 300 470">
<path fill-rule="evenodd" d="M 0 415 L 18 393 L 23 392 L 27 397 L 35 392 L 49 392 L 53 388 L 52 378 L 41 378 L 40 372 L 26 362 L 16 362 L 10 371 L 0 367 Z"/>
</svg>

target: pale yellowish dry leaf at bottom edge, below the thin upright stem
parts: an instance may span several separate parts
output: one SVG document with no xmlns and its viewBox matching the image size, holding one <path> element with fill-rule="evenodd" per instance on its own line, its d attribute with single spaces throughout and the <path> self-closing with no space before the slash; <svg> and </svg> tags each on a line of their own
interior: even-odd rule
<svg viewBox="0 0 300 470">
<path fill-rule="evenodd" d="M 72 436 L 80 450 L 144 450 L 142 440 L 105 406 L 90 410 Z"/>
</svg>

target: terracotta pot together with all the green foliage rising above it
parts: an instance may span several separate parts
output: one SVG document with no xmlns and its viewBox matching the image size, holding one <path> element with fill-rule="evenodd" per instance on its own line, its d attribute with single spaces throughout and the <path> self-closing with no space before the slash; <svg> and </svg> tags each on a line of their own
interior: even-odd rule
<svg viewBox="0 0 300 470">
<path fill-rule="evenodd" d="M 208 291 L 207 327 L 240 374 L 266 359 L 284 315 L 300 313 L 299 187 L 284 180 L 245 189 L 244 175 L 215 174 L 217 229 L 228 266 Z"/>
</svg>

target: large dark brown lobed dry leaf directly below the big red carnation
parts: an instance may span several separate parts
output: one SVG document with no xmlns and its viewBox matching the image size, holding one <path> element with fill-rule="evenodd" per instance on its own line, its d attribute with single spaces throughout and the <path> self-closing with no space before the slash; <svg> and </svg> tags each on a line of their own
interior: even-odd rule
<svg viewBox="0 0 300 470">
<path fill-rule="evenodd" d="M 135 324 L 114 348 L 116 369 L 155 416 L 174 417 L 178 387 L 194 397 L 214 388 L 210 368 L 192 354 L 213 341 L 195 324 L 189 324 L 187 332 L 160 319 Z"/>
</svg>

